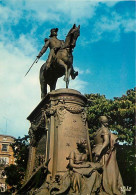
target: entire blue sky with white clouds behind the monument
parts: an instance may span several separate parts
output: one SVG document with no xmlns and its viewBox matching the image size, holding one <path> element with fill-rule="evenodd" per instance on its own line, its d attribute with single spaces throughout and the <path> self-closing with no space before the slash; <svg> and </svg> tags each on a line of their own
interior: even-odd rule
<svg viewBox="0 0 136 195">
<path fill-rule="evenodd" d="M 134 88 L 135 7 L 135 1 L 0 0 L 0 134 L 28 134 L 26 118 L 41 101 L 39 70 L 49 51 L 24 75 L 51 28 L 64 40 L 80 25 L 73 51 L 79 76 L 69 88 L 108 99 Z M 65 88 L 63 77 L 58 88 Z"/>
</svg>

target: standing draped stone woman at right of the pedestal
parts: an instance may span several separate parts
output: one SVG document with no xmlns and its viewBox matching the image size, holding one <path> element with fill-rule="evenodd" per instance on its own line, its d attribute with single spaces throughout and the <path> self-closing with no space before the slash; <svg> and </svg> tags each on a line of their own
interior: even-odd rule
<svg viewBox="0 0 136 195">
<path fill-rule="evenodd" d="M 103 193 L 101 194 L 121 195 L 123 182 L 116 160 L 115 144 L 117 136 L 109 131 L 108 119 L 106 116 L 101 116 L 99 120 L 101 127 L 95 133 L 95 147 L 92 152 L 95 162 L 101 163 L 103 167 Z"/>
</svg>

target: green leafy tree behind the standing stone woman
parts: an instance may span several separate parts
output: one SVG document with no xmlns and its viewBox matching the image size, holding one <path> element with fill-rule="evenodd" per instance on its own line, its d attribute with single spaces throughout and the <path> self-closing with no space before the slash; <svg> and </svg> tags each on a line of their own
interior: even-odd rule
<svg viewBox="0 0 136 195">
<path fill-rule="evenodd" d="M 109 128 L 118 134 L 120 141 L 133 144 L 135 142 L 135 95 L 130 89 L 122 97 L 114 97 L 113 100 L 106 99 L 100 94 L 86 94 L 89 100 L 87 108 L 87 119 L 89 125 L 90 139 L 99 127 L 99 117 L 105 115 L 109 118 Z"/>
</svg>

